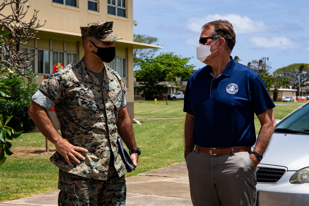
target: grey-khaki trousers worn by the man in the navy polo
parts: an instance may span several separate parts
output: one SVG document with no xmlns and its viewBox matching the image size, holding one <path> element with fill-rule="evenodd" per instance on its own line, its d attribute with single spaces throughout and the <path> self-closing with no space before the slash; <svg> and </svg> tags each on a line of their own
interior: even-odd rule
<svg viewBox="0 0 309 206">
<path fill-rule="evenodd" d="M 186 157 L 194 206 L 250 206 L 256 190 L 256 170 L 249 154 L 210 155 L 196 150 Z"/>
</svg>

